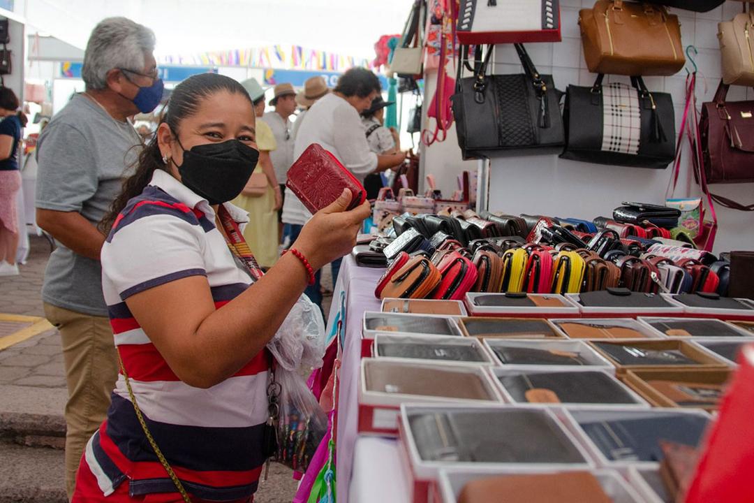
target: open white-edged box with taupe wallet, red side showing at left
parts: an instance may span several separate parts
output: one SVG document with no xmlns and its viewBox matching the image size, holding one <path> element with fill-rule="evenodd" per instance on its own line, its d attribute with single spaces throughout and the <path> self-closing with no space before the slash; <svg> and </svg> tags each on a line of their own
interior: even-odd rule
<svg viewBox="0 0 754 503">
<path fill-rule="evenodd" d="M 501 403 L 482 367 L 363 358 L 359 385 L 359 433 L 396 435 L 401 403 Z"/>
</svg>

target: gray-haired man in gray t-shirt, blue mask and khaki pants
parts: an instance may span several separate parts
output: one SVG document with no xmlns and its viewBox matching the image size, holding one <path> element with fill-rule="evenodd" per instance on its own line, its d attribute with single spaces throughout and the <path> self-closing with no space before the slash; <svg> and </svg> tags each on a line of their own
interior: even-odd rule
<svg viewBox="0 0 754 503">
<path fill-rule="evenodd" d="M 102 293 L 97 224 L 121 191 L 142 139 L 128 117 L 152 112 L 162 98 L 152 52 L 155 34 L 125 17 L 102 20 L 84 53 L 86 90 L 55 115 L 37 145 L 37 223 L 57 241 L 44 273 L 42 300 L 60 330 L 66 367 L 66 490 L 89 437 L 105 419 L 118 376 L 113 330 Z M 126 309 L 127 311 L 127 309 Z"/>
</svg>

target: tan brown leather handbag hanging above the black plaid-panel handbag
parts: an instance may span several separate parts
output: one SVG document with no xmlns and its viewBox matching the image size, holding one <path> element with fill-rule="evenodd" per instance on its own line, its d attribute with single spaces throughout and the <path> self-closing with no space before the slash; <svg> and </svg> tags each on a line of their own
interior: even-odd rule
<svg viewBox="0 0 754 503">
<path fill-rule="evenodd" d="M 662 6 L 597 0 L 578 15 L 590 72 L 673 75 L 686 62 L 678 16 Z"/>
</svg>

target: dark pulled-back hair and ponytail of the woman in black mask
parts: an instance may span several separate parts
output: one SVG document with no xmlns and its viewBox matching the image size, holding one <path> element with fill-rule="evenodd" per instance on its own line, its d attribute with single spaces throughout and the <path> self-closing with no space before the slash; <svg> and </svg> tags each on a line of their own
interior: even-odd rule
<svg viewBox="0 0 754 503">
<path fill-rule="evenodd" d="M 241 94 L 249 100 L 249 103 L 252 103 L 247 90 L 232 78 L 216 73 L 201 73 L 185 79 L 173 89 L 170 100 L 162 113 L 160 124 L 165 122 L 173 134 L 177 135 L 183 119 L 194 115 L 202 100 L 221 91 Z M 115 198 L 109 212 L 100 222 L 100 231 L 105 234 L 110 232 L 112 224 L 128 201 L 143 192 L 155 170 L 168 170 L 167 165 L 162 161 L 156 133 L 152 141 L 142 149 L 135 166 L 135 173 L 123 182 L 120 195 Z"/>
</svg>

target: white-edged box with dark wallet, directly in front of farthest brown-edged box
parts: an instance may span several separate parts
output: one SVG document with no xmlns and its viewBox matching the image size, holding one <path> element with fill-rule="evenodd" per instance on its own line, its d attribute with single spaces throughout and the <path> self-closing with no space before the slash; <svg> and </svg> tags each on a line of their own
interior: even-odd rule
<svg viewBox="0 0 754 503">
<path fill-rule="evenodd" d="M 615 373 L 605 357 L 581 341 L 524 341 L 484 339 L 484 345 L 503 366 L 516 368 L 603 367 Z"/>
</svg>

